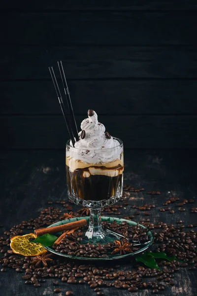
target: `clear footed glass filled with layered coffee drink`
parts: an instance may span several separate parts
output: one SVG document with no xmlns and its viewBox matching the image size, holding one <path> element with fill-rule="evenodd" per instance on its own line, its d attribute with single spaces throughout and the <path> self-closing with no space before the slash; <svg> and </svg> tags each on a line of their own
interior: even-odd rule
<svg viewBox="0 0 197 296">
<path fill-rule="evenodd" d="M 113 139 L 119 145 L 107 149 L 73 148 L 70 140 L 66 143 L 68 197 L 75 204 L 90 209 L 84 242 L 104 244 L 122 238 L 110 229 L 103 229 L 100 223 L 100 209 L 116 203 L 123 193 L 123 142 Z"/>
</svg>

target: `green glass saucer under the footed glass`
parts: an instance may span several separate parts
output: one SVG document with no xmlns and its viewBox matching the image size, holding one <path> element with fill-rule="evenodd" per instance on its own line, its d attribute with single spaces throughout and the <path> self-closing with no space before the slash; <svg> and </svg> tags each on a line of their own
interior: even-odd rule
<svg viewBox="0 0 197 296">
<path fill-rule="evenodd" d="M 69 222 L 75 222 L 75 221 L 79 221 L 81 219 L 86 219 L 87 222 L 89 222 L 89 217 L 76 217 L 76 218 L 72 218 L 72 219 L 67 219 L 67 220 L 62 220 L 62 221 L 59 221 L 59 222 L 56 222 L 56 223 L 53 223 L 51 225 L 49 225 L 48 227 L 52 227 L 52 226 L 58 226 L 58 225 L 63 225 L 63 224 L 66 224 L 66 223 L 69 223 Z M 136 225 L 138 224 L 139 226 L 141 226 L 142 228 L 144 229 L 147 229 L 147 227 L 145 227 L 144 225 L 142 224 L 139 224 L 137 222 L 134 222 L 134 221 L 130 221 L 130 220 L 126 220 L 126 219 L 120 219 L 120 218 L 113 218 L 113 217 L 101 217 L 101 222 L 102 221 L 106 221 L 106 222 L 114 222 L 116 221 L 117 224 L 120 224 L 121 222 L 125 221 L 127 222 L 129 225 Z M 55 235 L 55 233 L 54 233 Z M 58 232 L 56 233 L 57 236 L 61 235 L 61 232 Z M 133 253 L 128 253 L 128 254 L 125 254 L 125 255 L 119 255 L 119 254 L 113 254 L 111 255 L 110 257 L 107 257 L 107 258 L 88 258 L 88 257 L 77 257 L 77 256 L 70 256 L 70 255 L 67 255 L 67 254 L 62 254 L 60 252 L 57 252 L 55 251 L 52 247 L 44 247 L 47 251 L 53 253 L 53 254 L 56 254 L 56 255 L 59 255 L 59 256 L 62 256 L 62 257 L 66 257 L 66 258 L 70 258 L 70 259 L 78 259 L 78 260 L 94 260 L 94 261 L 103 261 L 103 260 L 114 260 L 114 259 L 122 259 L 122 258 L 125 258 L 127 256 L 134 256 L 134 255 L 137 255 L 137 254 L 140 254 L 142 252 L 144 252 L 145 250 L 147 250 L 153 243 L 153 234 L 150 230 L 148 230 L 147 232 L 147 235 L 148 235 L 148 238 L 149 238 L 149 243 L 147 243 L 146 245 L 143 245 L 142 248 L 140 248 L 139 250 L 133 252 Z"/>
</svg>

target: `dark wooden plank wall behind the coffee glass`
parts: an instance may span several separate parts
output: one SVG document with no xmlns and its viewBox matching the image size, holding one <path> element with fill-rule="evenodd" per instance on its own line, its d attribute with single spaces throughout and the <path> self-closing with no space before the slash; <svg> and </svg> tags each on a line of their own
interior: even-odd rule
<svg viewBox="0 0 197 296">
<path fill-rule="evenodd" d="M 64 149 L 48 66 L 62 60 L 78 126 L 88 109 L 125 148 L 197 148 L 195 0 L 3 1 L 2 149 Z M 58 74 L 59 77 L 59 74 Z"/>
</svg>

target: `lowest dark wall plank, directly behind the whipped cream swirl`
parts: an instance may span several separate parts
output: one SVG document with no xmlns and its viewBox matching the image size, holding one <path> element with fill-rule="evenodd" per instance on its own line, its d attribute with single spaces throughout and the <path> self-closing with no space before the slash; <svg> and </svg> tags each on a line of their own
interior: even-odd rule
<svg viewBox="0 0 197 296">
<path fill-rule="evenodd" d="M 85 114 L 85 111 L 84 111 Z M 85 116 L 76 116 L 79 126 Z M 99 116 L 126 148 L 197 148 L 197 116 Z M 65 148 L 63 116 L 0 116 L 1 148 Z"/>
</svg>

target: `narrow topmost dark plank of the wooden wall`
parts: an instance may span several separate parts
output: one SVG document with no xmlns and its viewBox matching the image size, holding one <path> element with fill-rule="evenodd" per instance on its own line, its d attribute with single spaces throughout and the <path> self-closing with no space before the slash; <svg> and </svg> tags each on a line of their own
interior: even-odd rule
<svg viewBox="0 0 197 296">
<path fill-rule="evenodd" d="M 54 2 L 53 0 L 34 0 L 31 2 L 27 2 L 25 0 L 21 0 L 20 3 L 12 1 L 10 5 L 10 1 L 1 1 L 0 3 L 1 9 L 8 10 L 16 10 L 16 11 L 57 11 L 57 10 L 187 10 L 187 9 L 196 9 L 197 3 L 195 0 L 72 0 L 72 1 L 64 1 L 58 0 Z"/>
</svg>

